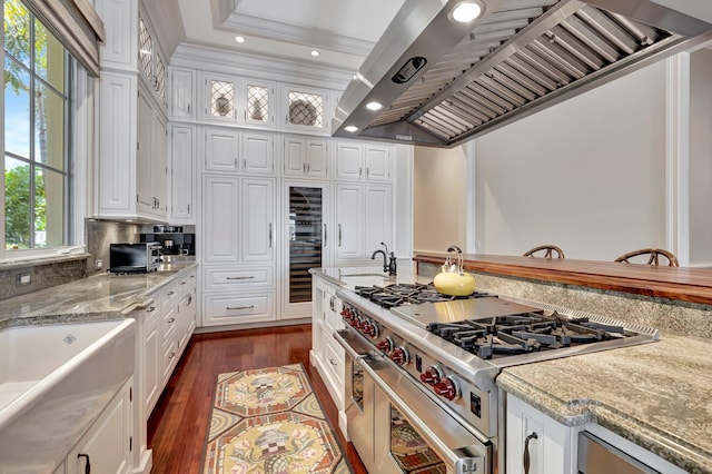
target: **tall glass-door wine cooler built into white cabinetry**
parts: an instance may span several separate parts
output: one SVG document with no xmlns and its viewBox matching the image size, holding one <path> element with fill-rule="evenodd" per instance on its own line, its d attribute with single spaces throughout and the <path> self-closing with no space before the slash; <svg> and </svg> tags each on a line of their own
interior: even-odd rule
<svg viewBox="0 0 712 474">
<path fill-rule="evenodd" d="M 309 268 L 326 266 L 327 223 L 326 184 L 285 182 L 286 236 L 283 273 L 285 305 L 283 318 L 312 315 L 312 275 Z"/>
</svg>

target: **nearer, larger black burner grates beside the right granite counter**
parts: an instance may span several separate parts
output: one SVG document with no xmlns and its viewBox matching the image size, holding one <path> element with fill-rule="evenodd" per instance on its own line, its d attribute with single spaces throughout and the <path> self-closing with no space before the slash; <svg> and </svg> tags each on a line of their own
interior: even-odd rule
<svg viewBox="0 0 712 474">
<path fill-rule="evenodd" d="M 587 318 L 525 313 L 458 323 L 431 323 L 431 333 L 482 358 L 556 349 L 629 336 L 623 326 Z"/>
</svg>

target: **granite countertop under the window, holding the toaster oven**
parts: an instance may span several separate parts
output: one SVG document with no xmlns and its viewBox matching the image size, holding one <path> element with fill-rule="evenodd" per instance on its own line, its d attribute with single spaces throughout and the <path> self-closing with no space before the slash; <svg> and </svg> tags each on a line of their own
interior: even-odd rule
<svg viewBox="0 0 712 474">
<path fill-rule="evenodd" d="M 195 268 L 195 261 L 164 264 L 138 275 L 100 274 L 0 302 L 0 329 L 58 322 L 117 319 L 148 295 Z"/>
</svg>

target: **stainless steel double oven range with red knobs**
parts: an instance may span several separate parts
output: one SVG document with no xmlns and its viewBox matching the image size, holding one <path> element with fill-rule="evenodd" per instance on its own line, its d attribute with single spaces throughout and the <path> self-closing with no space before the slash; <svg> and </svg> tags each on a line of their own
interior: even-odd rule
<svg viewBox="0 0 712 474">
<path fill-rule="evenodd" d="M 655 329 L 431 285 L 342 288 L 348 436 L 373 473 L 504 473 L 504 367 L 656 340 Z"/>
</svg>

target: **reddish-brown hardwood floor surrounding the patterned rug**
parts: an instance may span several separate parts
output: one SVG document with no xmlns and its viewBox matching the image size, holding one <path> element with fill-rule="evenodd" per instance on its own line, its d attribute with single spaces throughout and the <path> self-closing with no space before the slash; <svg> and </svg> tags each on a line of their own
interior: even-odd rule
<svg viewBox="0 0 712 474">
<path fill-rule="evenodd" d="M 200 473 L 218 374 L 301 363 L 355 473 L 366 473 L 338 428 L 338 413 L 309 364 L 312 326 L 284 326 L 194 335 L 148 422 L 154 474 Z"/>
</svg>

